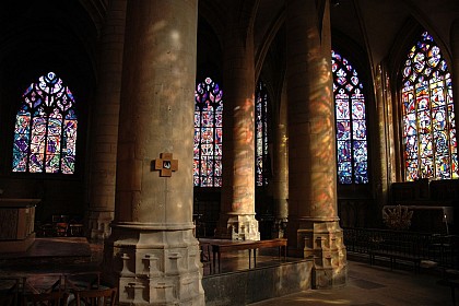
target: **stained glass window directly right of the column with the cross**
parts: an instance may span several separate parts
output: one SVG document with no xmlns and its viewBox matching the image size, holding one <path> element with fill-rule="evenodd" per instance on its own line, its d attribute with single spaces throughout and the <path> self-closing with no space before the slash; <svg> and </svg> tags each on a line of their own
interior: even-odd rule
<svg viewBox="0 0 459 306">
<path fill-rule="evenodd" d="M 193 180 L 199 187 L 222 186 L 222 91 L 207 78 L 195 92 Z"/>
</svg>

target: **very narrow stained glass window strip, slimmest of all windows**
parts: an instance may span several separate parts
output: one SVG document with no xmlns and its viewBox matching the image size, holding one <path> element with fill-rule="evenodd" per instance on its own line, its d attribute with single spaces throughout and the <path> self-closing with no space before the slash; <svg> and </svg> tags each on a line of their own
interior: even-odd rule
<svg viewBox="0 0 459 306">
<path fill-rule="evenodd" d="M 257 186 L 268 184 L 267 170 L 268 165 L 268 93 L 263 82 L 258 82 L 256 94 L 256 183 Z"/>
</svg>

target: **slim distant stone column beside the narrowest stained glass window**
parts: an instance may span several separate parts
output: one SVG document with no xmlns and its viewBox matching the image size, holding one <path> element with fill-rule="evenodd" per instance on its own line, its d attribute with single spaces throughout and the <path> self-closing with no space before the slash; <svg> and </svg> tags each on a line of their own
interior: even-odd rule
<svg viewBox="0 0 459 306">
<path fill-rule="evenodd" d="M 273 238 L 285 236 L 289 217 L 289 126 L 287 126 L 287 97 L 286 84 L 284 84 L 275 118 L 274 137 L 274 228 Z"/>
</svg>

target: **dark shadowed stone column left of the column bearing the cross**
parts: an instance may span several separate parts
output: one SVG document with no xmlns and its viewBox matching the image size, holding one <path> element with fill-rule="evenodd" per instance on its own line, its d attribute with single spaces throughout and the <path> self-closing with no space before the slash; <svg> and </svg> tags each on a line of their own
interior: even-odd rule
<svg viewBox="0 0 459 306">
<path fill-rule="evenodd" d="M 92 115 L 89 235 L 108 237 L 115 211 L 119 96 L 125 44 L 126 0 L 109 2 L 99 44 L 98 83 Z"/>
</svg>

